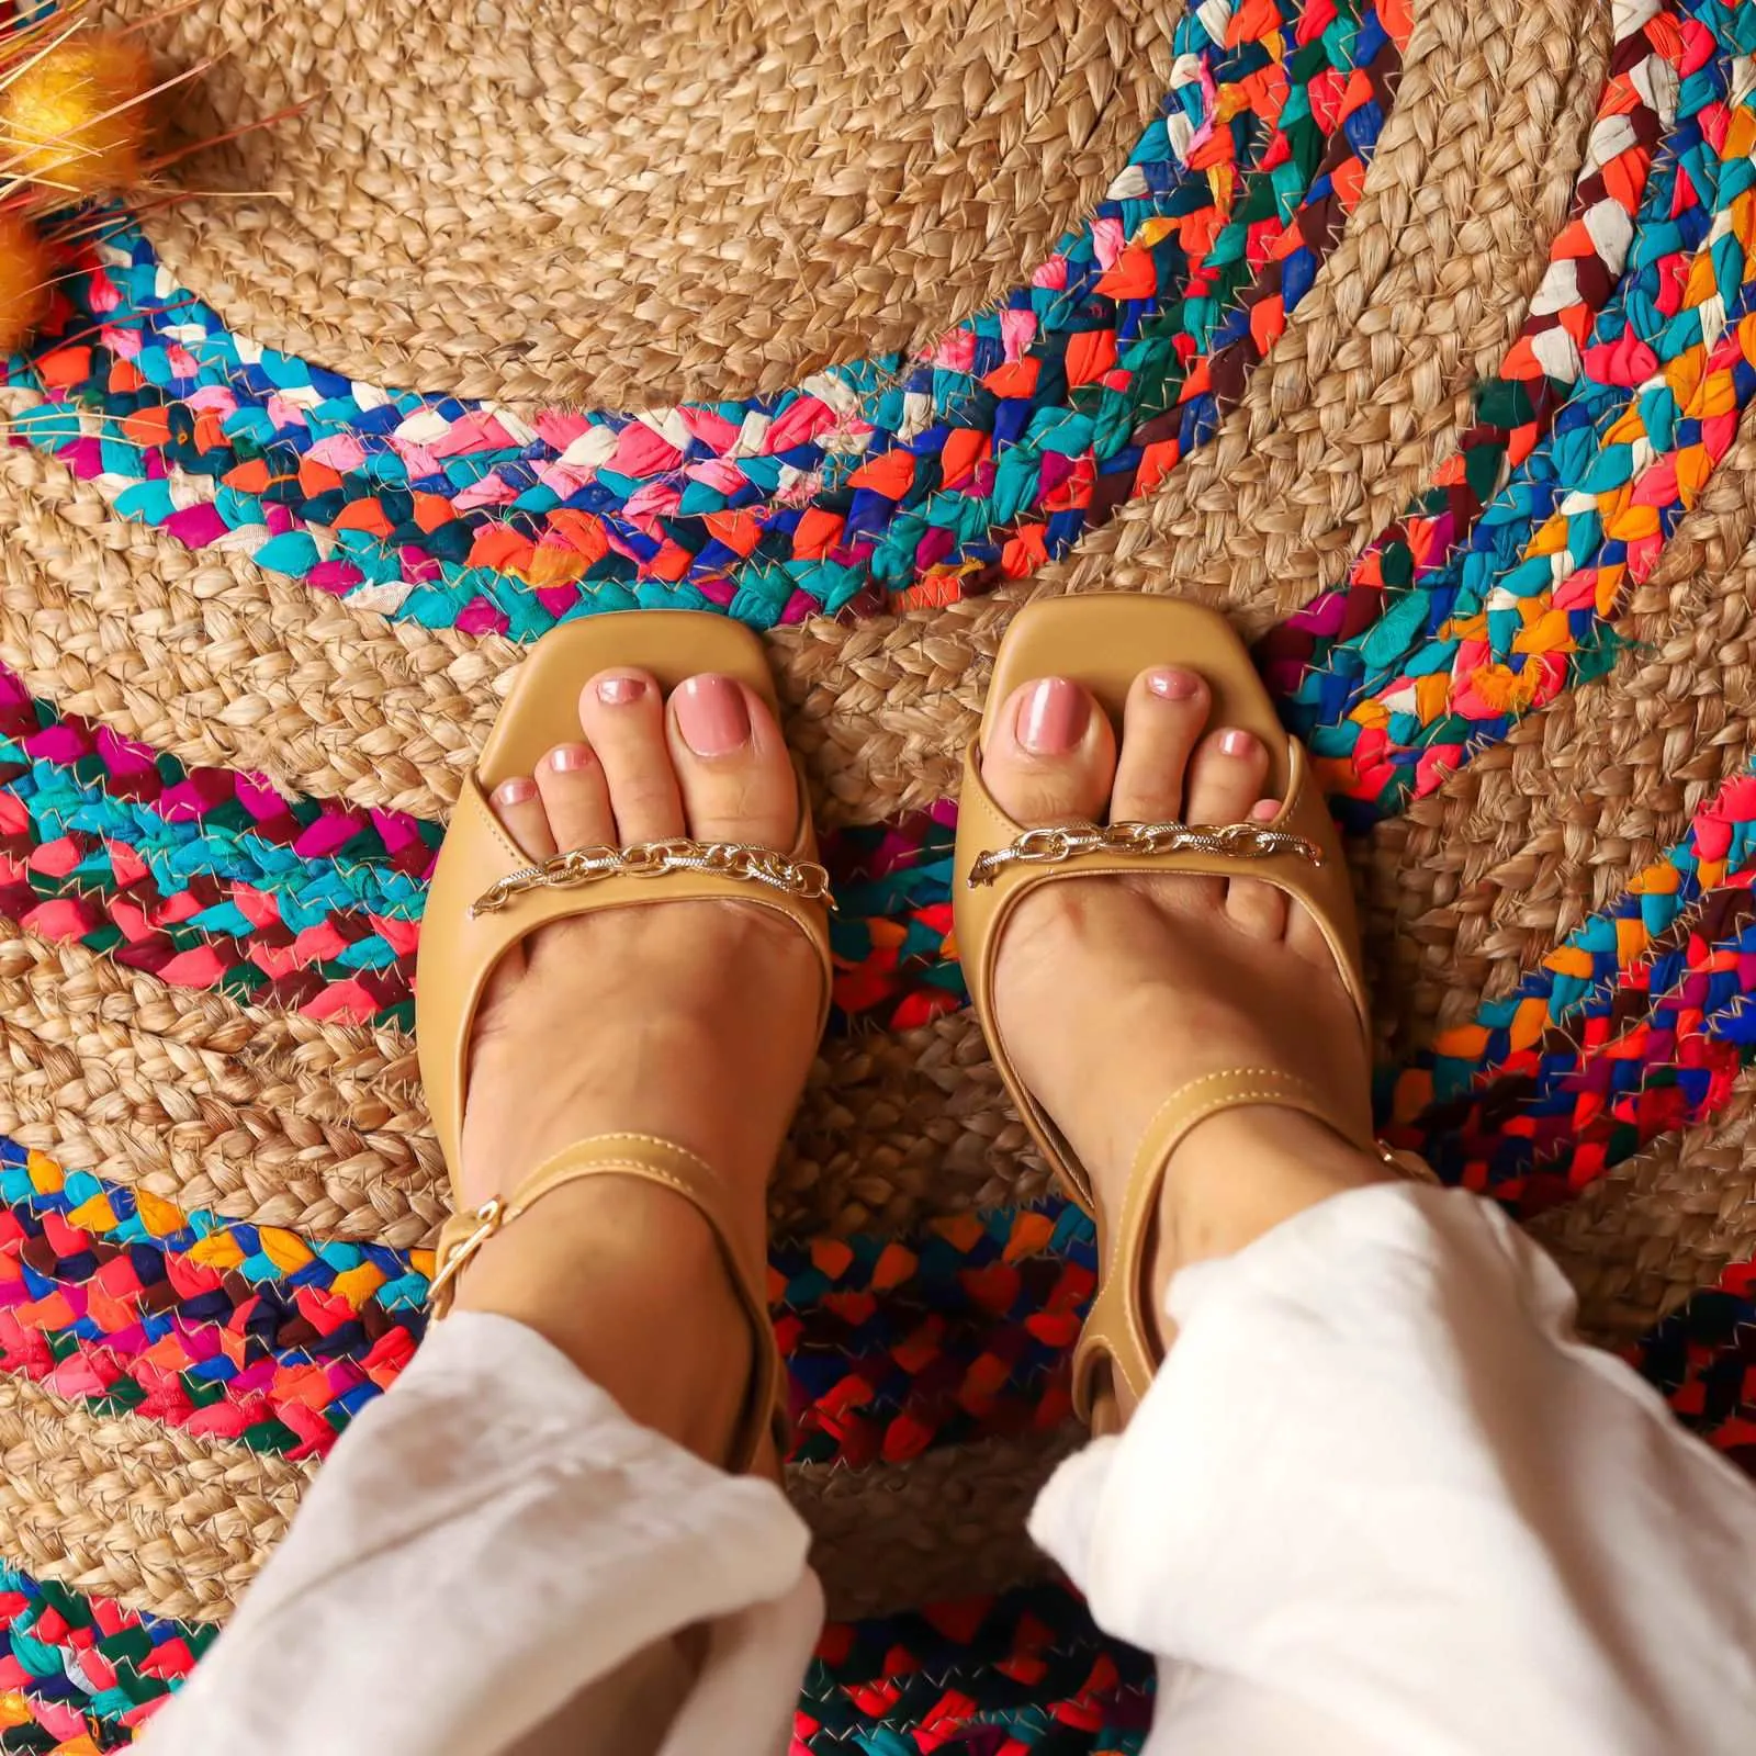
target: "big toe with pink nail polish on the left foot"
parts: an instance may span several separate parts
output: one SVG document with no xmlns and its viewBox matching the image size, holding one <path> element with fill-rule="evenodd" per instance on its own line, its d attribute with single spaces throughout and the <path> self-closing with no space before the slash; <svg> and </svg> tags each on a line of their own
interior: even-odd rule
<svg viewBox="0 0 1756 1756">
<path fill-rule="evenodd" d="M 794 846 L 799 781 L 760 695 L 729 676 L 688 678 L 671 695 L 669 743 L 692 836 Z"/>
</svg>

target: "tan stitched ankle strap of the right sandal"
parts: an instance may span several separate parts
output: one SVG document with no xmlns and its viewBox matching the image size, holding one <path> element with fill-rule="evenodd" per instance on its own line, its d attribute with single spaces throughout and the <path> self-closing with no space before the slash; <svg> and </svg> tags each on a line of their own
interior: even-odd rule
<svg viewBox="0 0 1756 1756">
<path fill-rule="evenodd" d="M 1126 1385 L 1129 1407 L 1147 1394 L 1152 1373 L 1157 1370 L 1159 1347 L 1141 1299 L 1141 1284 L 1155 1234 L 1159 1191 L 1171 1155 L 1201 1122 L 1250 1105 L 1298 1110 L 1382 1159 L 1400 1177 L 1438 1180 L 1412 1154 L 1387 1152 L 1373 1136 L 1368 1112 L 1342 1110 L 1329 1094 L 1308 1080 L 1294 1078 L 1277 1068 L 1233 1068 L 1180 1085 L 1141 1129 L 1127 1177 L 1127 1196 L 1108 1240 L 1106 1259 L 1098 1264 L 1098 1296 L 1092 1299 L 1090 1315 L 1073 1354 L 1073 1408 L 1082 1421 L 1094 1417 L 1098 1380 L 1105 1366 Z M 1119 1414 L 1110 1410 L 1112 1422 Z"/>
</svg>

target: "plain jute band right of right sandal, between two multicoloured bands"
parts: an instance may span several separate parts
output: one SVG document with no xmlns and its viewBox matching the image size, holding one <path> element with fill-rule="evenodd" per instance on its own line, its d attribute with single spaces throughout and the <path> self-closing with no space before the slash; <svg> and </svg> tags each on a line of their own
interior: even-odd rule
<svg viewBox="0 0 1756 1756">
<path fill-rule="evenodd" d="M 1607 678 L 1559 697 L 1357 845 L 1393 1054 L 1510 992 L 1756 757 L 1756 409 L 1617 618 Z"/>
</svg>

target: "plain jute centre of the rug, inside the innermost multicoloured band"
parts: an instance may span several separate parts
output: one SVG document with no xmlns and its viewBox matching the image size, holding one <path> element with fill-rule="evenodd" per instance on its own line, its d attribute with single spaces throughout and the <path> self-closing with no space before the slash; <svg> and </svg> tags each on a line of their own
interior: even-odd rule
<svg viewBox="0 0 1756 1756">
<path fill-rule="evenodd" d="M 137 0 L 109 9 L 139 16 Z M 371 383 L 646 407 L 931 344 L 1106 191 L 1171 76 L 1143 0 L 648 11 L 198 0 L 198 162 L 148 232 L 256 341 Z"/>
</svg>

